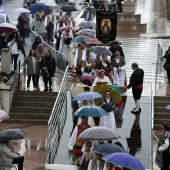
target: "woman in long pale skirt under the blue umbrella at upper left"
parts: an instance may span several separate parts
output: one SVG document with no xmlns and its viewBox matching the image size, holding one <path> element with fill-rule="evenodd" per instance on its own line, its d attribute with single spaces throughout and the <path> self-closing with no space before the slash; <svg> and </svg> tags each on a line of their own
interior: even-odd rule
<svg viewBox="0 0 170 170">
<path fill-rule="evenodd" d="M 42 7 L 39 7 L 38 12 L 36 13 L 36 21 L 35 21 L 35 32 L 37 32 L 38 34 L 46 32 L 44 21 L 45 21 L 45 13 Z"/>
</svg>

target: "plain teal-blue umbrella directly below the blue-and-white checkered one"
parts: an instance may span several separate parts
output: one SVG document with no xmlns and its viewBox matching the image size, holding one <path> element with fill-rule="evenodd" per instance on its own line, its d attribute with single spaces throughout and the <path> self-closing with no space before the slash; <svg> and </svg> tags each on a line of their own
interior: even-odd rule
<svg viewBox="0 0 170 170">
<path fill-rule="evenodd" d="M 74 114 L 75 116 L 86 117 L 101 117 L 109 115 L 104 109 L 98 106 L 84 106 L 79 108 Z"/>
</svg>

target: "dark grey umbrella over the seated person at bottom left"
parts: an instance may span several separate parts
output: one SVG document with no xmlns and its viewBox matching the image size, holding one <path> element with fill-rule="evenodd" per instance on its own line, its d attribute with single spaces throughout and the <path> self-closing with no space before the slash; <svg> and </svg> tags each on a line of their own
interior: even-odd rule
<svg viewBox="0 0 170 170">
<path fill-rule="evenodd" d="M 0 131 L 0 141 L 24 139 L 27 133 L 21 129 L 6 129 Z"/>
</svg>

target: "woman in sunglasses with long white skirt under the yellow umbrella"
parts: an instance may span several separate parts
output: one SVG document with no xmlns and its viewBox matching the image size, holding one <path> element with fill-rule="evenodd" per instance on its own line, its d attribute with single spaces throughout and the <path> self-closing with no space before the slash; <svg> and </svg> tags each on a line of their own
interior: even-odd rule
<svg viewBox="0 0 170 170">
<path fill-rule="evenodd" d="M 100 126 L 116 130 L 114 110 L 117 109 L 117 106 L 115 105 L 115 101 L 110 97 L 110 91 L 106 91 L 105 97 L 99 106 L 109 114 L 108 116 L 100 117 Z"/>
</svg>

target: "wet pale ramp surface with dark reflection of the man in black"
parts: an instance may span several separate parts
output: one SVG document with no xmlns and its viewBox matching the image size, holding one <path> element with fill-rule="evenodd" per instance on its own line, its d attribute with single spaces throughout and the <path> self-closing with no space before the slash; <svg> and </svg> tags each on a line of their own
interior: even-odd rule
<svg viewBox="0 0 170 170">
<path fill-rule="evenodd" d="M 115 115 L 119 142 L 125 150 L 140 159 L 145 168 L 150 168 L 151 151 L 151 112 L 150 97 L 141 97 L 141 114 L 131 113 L 135 104 L 132 96 L 123 97 L 123 105 Z"/>
</svg>

